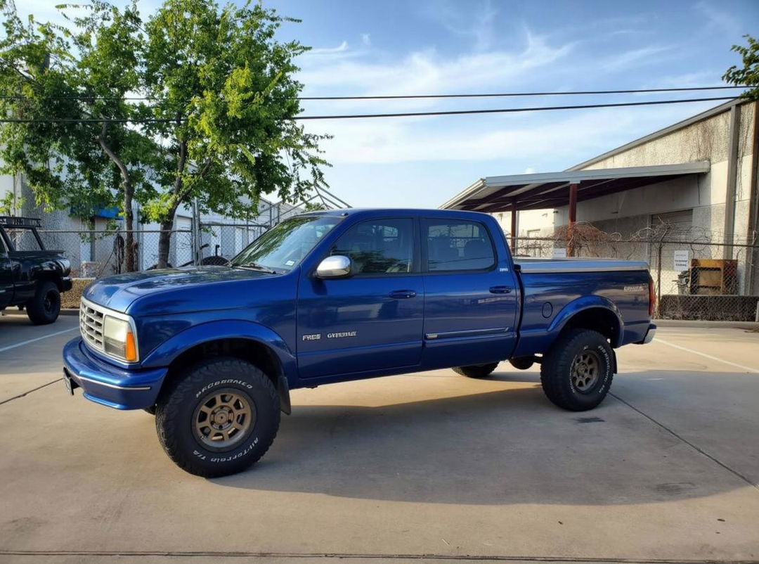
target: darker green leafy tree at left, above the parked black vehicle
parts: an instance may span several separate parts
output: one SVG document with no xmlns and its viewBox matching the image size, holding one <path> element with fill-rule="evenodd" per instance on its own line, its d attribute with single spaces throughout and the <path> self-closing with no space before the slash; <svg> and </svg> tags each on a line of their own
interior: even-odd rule
<svg viewBox="0 0 759 564">
<path fill-rule="evenodd" d="M 37 203 L 71 206 L 80 216 L 121 203 L 126 269 L 134 270 L 135 191 L 150 189 L 146 166 L 156 146 L 120 121 L 135 108 L 124 96 L 139 87 L 140 18 L 93 0 L 87 17 L 59 27 L 18 17 L 0 0 L 0 107 L 22 120 L 0 129 L 2 172 L 27 178 Z"/>
</svg>

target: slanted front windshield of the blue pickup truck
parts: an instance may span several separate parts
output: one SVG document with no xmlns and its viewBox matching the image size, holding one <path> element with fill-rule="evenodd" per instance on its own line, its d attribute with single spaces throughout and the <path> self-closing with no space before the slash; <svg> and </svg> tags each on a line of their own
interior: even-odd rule
<svg viewBox="0 0 759 564">
<path fill-rule="evenodd" d="M 248 245 L 231 266 L 265 268 L 277 273 L 294 269 L 342 217 L 298 216 L 285 219 Z"/>
</svg>

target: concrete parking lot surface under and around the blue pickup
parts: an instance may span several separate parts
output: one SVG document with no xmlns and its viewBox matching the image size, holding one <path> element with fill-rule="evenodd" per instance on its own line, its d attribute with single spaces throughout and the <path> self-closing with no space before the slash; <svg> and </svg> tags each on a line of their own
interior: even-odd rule
<svg viewBox="0 0 759 564">
<path fill-rule="evenodd" d="M 759 560 L 759 333 L 662 328 L 583 413 L 506 363 L 297 390 L 204 480 L 149 414 L 66 394 L 76 323 L 0 318 L 2 562 Z"/>
</svg>

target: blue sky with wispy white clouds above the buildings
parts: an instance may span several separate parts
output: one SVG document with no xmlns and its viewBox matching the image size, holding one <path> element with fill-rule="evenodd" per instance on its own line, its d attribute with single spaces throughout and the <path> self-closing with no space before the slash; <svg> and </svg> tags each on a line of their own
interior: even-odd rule
<svg viewBox="0 0 759 564">
<path fill-rule="evenodd" d="M 19 7 L 53 15 L 53 0 Z M 118 4 L 122 2 L 118 2 Z M 305 95 L 484 93 L 719 85 L 729 51 L 759 35 L 759 0 L 268 0 L 301 24 L 280 39 L 301 58 Z M 158 0 L 143 0 L 143 15 Z M 305 102 L 306 114 L 505 108 L 720 96 Z M 622 109 L 310 121 L 330 190 L 353 206 L 439 206 L 477 178 L 550 172 L 720 102 Z"/>
</svg>

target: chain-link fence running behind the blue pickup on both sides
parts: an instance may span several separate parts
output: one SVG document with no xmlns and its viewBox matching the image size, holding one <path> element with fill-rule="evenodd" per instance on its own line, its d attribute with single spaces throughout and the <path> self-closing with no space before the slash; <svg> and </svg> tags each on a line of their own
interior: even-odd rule
<svg viewBox="0 0 759 564">
<path fill-rule="evenodd" d="M 224 264 L 268 228 L 206 222 L 197 238 L 191 229 L 168 232 L 168 263 Z M 17 249 L 39 248 L 29 230 L 7 231 Z M 157 266 L 160 234 L 134 232 L 138 270 Z M 39 230 L 39 236 L 47 249 L 61 250 L 71 260 L 74 277 L 102 278 L 125 271 L 123 231 Z M 755 321 L 759 315 L 757 241 L 726 241 L 702 229 L 664 223 L 623 237 L 578 223 L 572 231 L 558 228 L 550 237 L 520 237 L 513 252 L 518 257 L 644 260 L 650 265 L 657 294 L 655 317 L 660 319 Z"/>
</svg>

